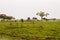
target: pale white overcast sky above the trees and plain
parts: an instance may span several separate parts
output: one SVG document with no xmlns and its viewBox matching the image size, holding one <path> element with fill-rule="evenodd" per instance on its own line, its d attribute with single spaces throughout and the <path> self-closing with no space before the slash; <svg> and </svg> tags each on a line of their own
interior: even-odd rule
<svg viewBox="0 0 60 40">
<path fill-rule="evenodd" d="M 37 12 L 49 13 L 47 18 L 60 18 L 60 0 L 0 0 L 0 14 L 16 19 L 37 17 Z"/>
</svg>

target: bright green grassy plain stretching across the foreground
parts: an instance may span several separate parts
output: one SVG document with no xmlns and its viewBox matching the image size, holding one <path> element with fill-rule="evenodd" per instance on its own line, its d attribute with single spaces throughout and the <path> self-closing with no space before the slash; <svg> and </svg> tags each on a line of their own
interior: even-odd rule
<svg viewBox="0 0 60 40">
<path fill-rule="evenodd" d="M 60 40 L 60 21 L 0 22 L 0 39 Z"/>
</svg>

